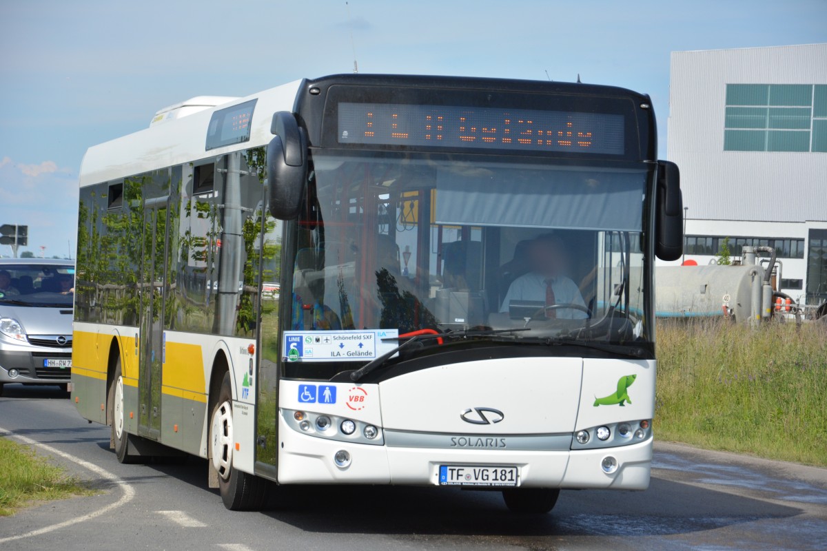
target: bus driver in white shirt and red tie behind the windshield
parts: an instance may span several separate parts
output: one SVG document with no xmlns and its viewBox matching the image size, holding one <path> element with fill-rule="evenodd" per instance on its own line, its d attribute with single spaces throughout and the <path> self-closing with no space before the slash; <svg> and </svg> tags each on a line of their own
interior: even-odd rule
<svg viewBox="0 0 827 551">
<path fill-rule="evenodd" d="M 563 274 L 565 256 L 560 238 L 552 234 L 539 235 L 528 246 L 528 257 L 531 271 L 511 283 L 500 306 L 501 312 L 509 311 L 511 301 L 586 306 L 580 289 Z M 587 315 L 585 311 L 561 307 L 548 309 L 546 317 L 581 320 Z"/>
</svg>

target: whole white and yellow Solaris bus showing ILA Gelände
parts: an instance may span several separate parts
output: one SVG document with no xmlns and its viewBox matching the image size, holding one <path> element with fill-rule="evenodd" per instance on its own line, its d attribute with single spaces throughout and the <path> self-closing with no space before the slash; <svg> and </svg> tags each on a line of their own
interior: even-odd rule
<svg viewBox="0 0 827 551">
<path fill-rule="evenodd" d="M 219 105 L 211 105 L 221 102 Z M 90 148 L 73 399 L 126 463 L 279 484 L 648 487 L 653 266 L 681 254 L 647 96 L 337 75 Z"/>
</svg>

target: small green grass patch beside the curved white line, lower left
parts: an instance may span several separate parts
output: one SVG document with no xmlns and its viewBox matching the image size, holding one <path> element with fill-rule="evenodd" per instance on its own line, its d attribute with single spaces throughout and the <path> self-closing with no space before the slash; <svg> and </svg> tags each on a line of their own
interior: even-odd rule
<svg viewBox="0 0 827 551">
<path fill-rule="evenodd" d="M 13 515 L 33 501 L 94 493 L 76 478 L 68 476 L 63 468 L 36 455 L 28 446 L 2 437 L 0 465 L 0 516 Z"/>
</svg>

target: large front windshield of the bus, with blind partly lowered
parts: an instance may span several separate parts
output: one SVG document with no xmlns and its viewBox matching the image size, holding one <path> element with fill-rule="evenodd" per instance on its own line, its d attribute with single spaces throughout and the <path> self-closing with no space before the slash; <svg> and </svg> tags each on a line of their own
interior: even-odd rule
<svg viewBox="0 0 827 551">
<path fill-rule="evenodd" d="M 651 340 L 643 164 L 313 150 L 293 330 Z"/>
</svg>

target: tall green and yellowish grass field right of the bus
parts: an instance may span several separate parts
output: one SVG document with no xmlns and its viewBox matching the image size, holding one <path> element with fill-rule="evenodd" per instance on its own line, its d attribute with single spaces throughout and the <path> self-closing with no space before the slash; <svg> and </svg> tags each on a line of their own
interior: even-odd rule
<svg viewBox="0 0 827 551">
<path fill-rule="evenodd" d="M 827 325 L 660 322 L 658 439 L 827 466 Z"/>
</svg>

